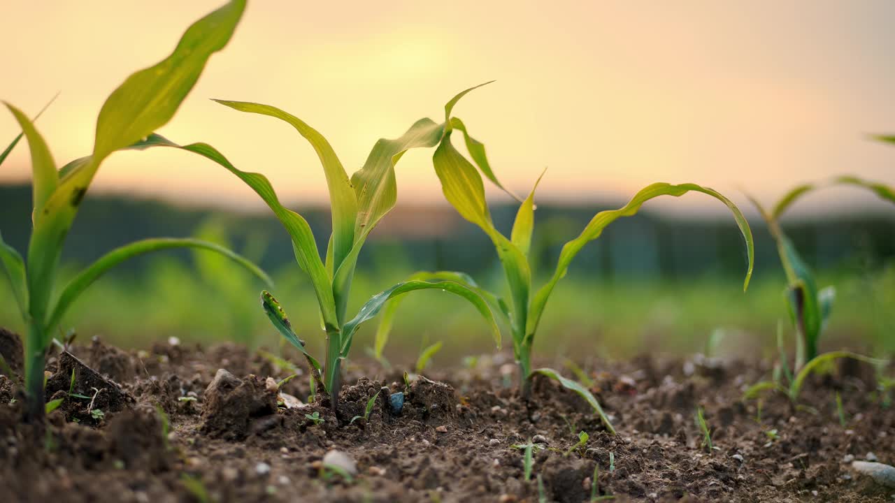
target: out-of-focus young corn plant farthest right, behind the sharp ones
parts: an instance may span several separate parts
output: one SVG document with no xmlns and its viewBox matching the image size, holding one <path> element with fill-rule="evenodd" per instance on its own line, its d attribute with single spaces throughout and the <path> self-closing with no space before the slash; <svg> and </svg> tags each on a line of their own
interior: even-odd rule
<svg viewBox="0 0 895 503">
<path fill-rule="evenodd" d="M 827 286 L 818 290 L 814 272 L 805 264 L 780 227 L 780 217 L 796 200 L 815 189 L 840 184 L 853 185 L 874 192 L 882 200 L 895 202 L 895 189 L 882 183 L 868 182 L 856 176 L 839 176 L 826 183 L 806 183 L 787 192 L 769 211 L 754 198 L 755 208 L 762 214 L 768 231 L 777 243 L 780 264 L 787 277 L 786 300 L 789 319 L 796 329 L 796 361 L 798 371 L 818 356 L 817 344 L 830 318 L 836 289 Z"/>
</svg>

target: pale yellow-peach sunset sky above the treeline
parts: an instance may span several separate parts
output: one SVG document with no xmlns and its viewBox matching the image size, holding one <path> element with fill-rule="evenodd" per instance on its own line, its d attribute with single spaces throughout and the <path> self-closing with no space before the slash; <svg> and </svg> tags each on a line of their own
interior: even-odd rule
<svg viewBox="0 0 895 503">
<path fill-rule="evenodd" d="M 87 155 L 108 94 L 164 58 L 218 4 L 5 4 L 0 98 L 33 114 L 61 91 L 38 130 L 58 165 Z M 831 175 L 895 183 L 895 149 L 868 140 L 895 132 L 892 19 L 888 0 L 255 0 L 159 132 L 209 142 L 241 169 L 268 175 L 294 205 L 325 203 L 320 164 L 291 126 L 208 98 L 299 116 L 328 138 L 350 175 L 379 137 L 400 136 L 423 116 L 438 119 L 456 92 L 496 80 L 464 98 L 455 115 L 515 192 L 528 192 L 547 167 L 541 201 L 622 201 L 662 181 L 706 184 L 744 205 L 749 192 L 771 204 L 796 183 Z M 17 133 L 12 115 L 0 113 L 0 140 Z M 399 205 L 443 200 L 431 153 L 413 151 L 398 164 Z M 23 142 L 0 183 L 29 176 Z M 260 206 L 219 166 L 168 149 L 115 154 L 90 190 Z M 803 208 L 863 208 L 870 199 L 827 189 Z M 698 194 L 652 206 L 724 211 Z"/>
</svg>

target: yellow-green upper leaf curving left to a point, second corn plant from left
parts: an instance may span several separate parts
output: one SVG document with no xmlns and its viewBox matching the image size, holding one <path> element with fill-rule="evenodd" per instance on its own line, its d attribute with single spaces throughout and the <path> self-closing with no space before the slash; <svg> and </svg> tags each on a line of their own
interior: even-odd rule
<svg viewBox="0 0 895 503">
<path fill-rule="evenodd" d="M 276 117 L 292 125 L 305 140 L 311 143 L 311 147 L 317 152 L 317 157 L 320 158 L 323 173 L 327 178 L 333 221 L 333 264 L 335 266 L 334 269 L 338 269 L 354 246 L 354 220 L 357 217 L 357 198 L 354 195 L 351 182 L 348 180 L 348 175 L 345 173 L 345 167 L 342 166 L 342 162 L 339 161 L 335 150 L 329 145 L 327 139 L 298 117 L 288 114 L 277 107 L 243 101 L 226 101 L 222 99 L 215 99 L 214 101 L 240 112 Z M 329 260 L 329 255 L 327 255 L 327 260 Z"/>
</svg>

